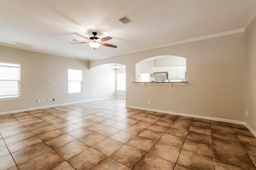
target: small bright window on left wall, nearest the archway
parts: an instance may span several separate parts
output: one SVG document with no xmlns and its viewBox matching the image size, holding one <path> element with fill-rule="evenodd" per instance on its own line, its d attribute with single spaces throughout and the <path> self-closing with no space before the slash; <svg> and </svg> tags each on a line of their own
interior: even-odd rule
<svg viewBox="0 0 256 170">
<path fill-rule="evenodd" d="M 83 70 L 68 68 L 68 94 L 82 93 Z"/>
</svg>

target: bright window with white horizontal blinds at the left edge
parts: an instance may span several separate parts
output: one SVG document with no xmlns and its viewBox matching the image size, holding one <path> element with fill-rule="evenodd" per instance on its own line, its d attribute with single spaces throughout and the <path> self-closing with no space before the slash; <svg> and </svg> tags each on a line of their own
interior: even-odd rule
<svg viewBox="0 0 256 170">
<path fill-rule="evenodd" d="M 20 98 L 20 63 L 0 61 L 0 100 Z"/>
</svg>

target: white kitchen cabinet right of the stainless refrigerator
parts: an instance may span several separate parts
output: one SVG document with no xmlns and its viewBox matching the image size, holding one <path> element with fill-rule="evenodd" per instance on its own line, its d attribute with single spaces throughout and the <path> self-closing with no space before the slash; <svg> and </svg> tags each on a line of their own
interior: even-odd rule
<svg viewBox="0 0 256 170">
<path fill-rule="evenodd" d="M 186 66 L 172 66 L 168 67 L 168 79 L 186 79 Z"/>
</svg>

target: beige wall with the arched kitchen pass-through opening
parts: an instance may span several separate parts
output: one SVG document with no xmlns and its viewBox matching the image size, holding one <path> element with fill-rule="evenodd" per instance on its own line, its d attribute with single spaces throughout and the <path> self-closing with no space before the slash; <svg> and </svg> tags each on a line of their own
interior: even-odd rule
<svg viewBox="0 0 256 170">
<path fill-rule="evenodd" d="M 244 121 L 244 32 L 89 62 L 126 65 L 126 106 Z M 148 57 L 186 58 L 187 85 L 132 83 L 135 64 Z M 150 104 L 148 104 L 150 100 Z"/>
</svg>

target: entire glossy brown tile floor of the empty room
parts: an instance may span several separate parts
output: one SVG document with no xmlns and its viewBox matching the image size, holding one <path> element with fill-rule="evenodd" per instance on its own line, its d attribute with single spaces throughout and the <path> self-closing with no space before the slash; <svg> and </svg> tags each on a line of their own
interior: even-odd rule
<svg viewBox="0 0 256 170">
<path fill-rule="evenodd" d="M 111 98 L 0 115 L 0 170 L 256 170 L 244 126 Z"/>
</svg>

